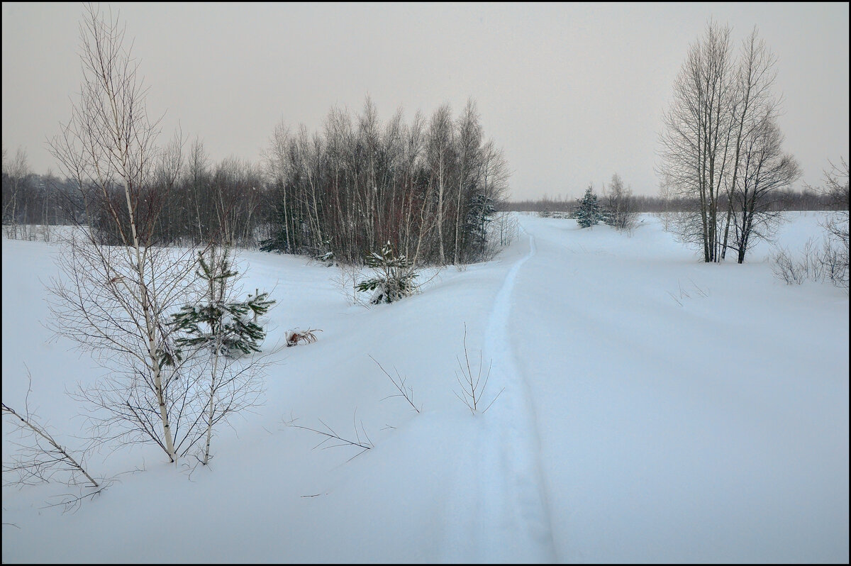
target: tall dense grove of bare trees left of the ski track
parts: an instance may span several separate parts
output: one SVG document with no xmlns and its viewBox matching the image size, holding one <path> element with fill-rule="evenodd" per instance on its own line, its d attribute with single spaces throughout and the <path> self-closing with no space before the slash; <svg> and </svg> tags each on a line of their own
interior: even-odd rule
<svg viewBox="0 0 851 566">
<path fill-rule="evenodd" d="M 473 101 L 455 119 L 443 105 L 427 122 L 397 111 L 381 123 L 367 99 L 356 116 L 332 110 L 321 133 L 279 123 L 264 169 L 275 216 L 262 249 L 346 263 L 387 242 L 415 263 L 481 258 L 508 179 Z"/>
</svg>

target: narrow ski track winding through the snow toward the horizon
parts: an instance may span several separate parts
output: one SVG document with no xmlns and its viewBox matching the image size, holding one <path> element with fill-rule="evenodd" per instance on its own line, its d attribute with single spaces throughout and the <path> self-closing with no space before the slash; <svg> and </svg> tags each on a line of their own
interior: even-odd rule
<svg viewBox="0 0 851 566">
<path fill-rule="evenodd" d="M 534 409 L 517 370 L 509 332 L 517 273 L 536 253 L 531 234 L 528 243 L 528 254 L 511 266 L 496 295 L 484 337 L 483 380 L 488 360 L 492 365 L 483 406 L 505 387 L 486 414 L 477 414 L 482 427 L 477 443 L 475 556 L 485 563 L 556 561 Z"/>
</svg>

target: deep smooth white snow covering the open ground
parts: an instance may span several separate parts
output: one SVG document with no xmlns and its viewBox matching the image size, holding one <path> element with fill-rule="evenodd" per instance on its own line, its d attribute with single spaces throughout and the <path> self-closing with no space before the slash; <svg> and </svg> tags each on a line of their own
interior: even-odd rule
<svg viewBox="0 0 851 566">
<path fill-rule="evenodd" d="M 789 217 L 782 245 L 820 241 L 820 214 Z M 265 403 L 206 468 L 92 455 L 117 482 L 76 512 L 46 507 L 61 484 L 4 486 L 3 562 L 848 563 L 848 294 L 780 282 L 766 244 L 704 264 L 649 214 L 631 237 L 518 218 L 494 260 L 372 308 L 336 268 L 241 252 L 246 291 L 277 300 Z M 23 407 L 26 364 L 31 409 L 75 449 L 65 392 L 103 370 L 43 326 L 59 249 L 3 239 L 3 402 Z M 484 402 L 501 391 L 485 413 L 455 397 L 465 325 Z M 281 347 L 294 328 L 322 332 Z M 374 449 L 313 449 L 291 419 Z"/>
</svg>

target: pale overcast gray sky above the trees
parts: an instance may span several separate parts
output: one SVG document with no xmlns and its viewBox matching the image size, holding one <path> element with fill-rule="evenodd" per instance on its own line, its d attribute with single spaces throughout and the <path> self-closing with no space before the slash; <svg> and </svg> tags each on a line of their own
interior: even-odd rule
<svg viewBox="0 0 851 566">
<path fill-rule="evenodd" d="M 210 157 L 258 160 L 275 123 L 321 128 L 334 105 L 382 119 L 477 101 L 512 197 L 577 197 L 614 172 L 656 194 L 661 114 L 710 18 L 753 26 L 778 57 L 786 150 L 818 184 L 848 159 L 848 3 L 159 4 L 118 11 L 150 87 Z M 3 3 L 3 147 L 57 172 L 45 140 L 79 90 L 78 3 Z M 163 141 L 165 139 L 163 138 Z"/>
</svg>

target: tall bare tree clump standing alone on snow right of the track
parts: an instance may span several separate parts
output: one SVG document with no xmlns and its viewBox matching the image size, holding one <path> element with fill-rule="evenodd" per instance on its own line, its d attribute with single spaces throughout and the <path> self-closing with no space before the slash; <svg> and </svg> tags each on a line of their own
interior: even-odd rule
<svg viewBox="0 0 851 566">
<path fill-rule="evenodd" d="M 780 192 L 800 168 L 782 152 L 780 101 L 771 92 L 776 58 L 754 28 L 734 60 L 729 36 L 710 22 L 689 51 L 665 113 L 660 173 L 666 196 L 695 203 L 694 211 L 666 214 L 666 229 L 702 244 L 705 261 L 731 248 L 741 263 L 754 237 L 772 237 Z"/>
</svg>

